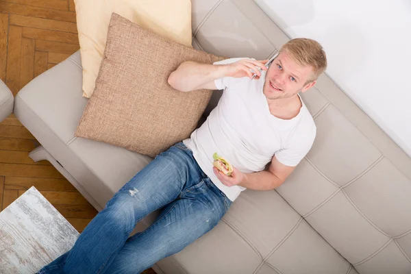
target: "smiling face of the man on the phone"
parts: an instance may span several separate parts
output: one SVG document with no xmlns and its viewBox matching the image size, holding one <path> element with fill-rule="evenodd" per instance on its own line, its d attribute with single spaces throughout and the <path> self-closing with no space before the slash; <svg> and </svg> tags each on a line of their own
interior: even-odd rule
<svg viewBox="0 0 411 274">
<path fill-rule="evenodd" d="M 262 92 L 268 99 L 283 99 L 305 92 L 314 86 L 310 79 L 312 68 L 301 66 L 286 51 L 279 53 L 266 72 Z"/>
</svg>

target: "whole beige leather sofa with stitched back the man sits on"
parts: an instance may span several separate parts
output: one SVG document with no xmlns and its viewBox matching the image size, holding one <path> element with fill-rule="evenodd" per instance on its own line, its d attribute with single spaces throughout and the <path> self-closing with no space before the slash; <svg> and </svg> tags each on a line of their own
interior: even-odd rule
<svg viewBox="0 0 411 274">
<path fill-rule="evenodd" d="M 198 49 L 256 59 L 288 40 L 252 0 L 192 0 L 192 33 Z M 411 159 L 326 75 L 303 99 L 318 135 L 295 173 L 277 190 L 243 192 L 219 225 L 156 272 L 411 273 Z M 18 92 L 14 112 L 42 144 L 31 157 L 49 160 L 101 210 L 151 158 L 75 138 L 86 103 L 75 53 Z"/>
</svg>

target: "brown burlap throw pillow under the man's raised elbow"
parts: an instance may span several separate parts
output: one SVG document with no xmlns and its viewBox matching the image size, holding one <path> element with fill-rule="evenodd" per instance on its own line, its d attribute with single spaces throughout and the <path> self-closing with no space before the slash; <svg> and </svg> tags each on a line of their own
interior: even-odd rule
<svg viewBox="0 0 411 274">
<path fill-rule="evenodd" d="M 180 92 L 167 79 L 184 61 L 222 60 L 112 14 L 96 87 L 75 136 L 154 157 L 188 138 L 211 90 Z"/>
</svg>

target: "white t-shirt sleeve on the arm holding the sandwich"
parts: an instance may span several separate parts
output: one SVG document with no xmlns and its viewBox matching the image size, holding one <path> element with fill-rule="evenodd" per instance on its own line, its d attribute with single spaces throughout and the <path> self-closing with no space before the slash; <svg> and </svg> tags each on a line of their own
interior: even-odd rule
<svg viewBox="0 0 411 274">
<path fill-rule="evenodd" d="M 310 151 L 316 136 L 316 127 L 312 127 L 306 134 L 299 134 L 292 138 L 290 143 L 275 153 L 275 158 L 286 166 L 297 166 L 308 151 Z"/>
</svg>

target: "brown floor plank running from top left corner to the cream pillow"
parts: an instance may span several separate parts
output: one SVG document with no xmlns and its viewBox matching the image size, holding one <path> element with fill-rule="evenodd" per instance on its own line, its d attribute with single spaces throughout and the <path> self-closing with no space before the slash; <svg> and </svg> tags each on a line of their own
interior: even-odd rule
<svg viewBox="0 0 411 274">
<path fill-rule="evenodd" d="M 75 23 L 75 13 L 69 11 L 49 10 L 47 8 L 38 8 L 29 5 L 8 3 L 5 1 L 0 1 L 0 10 L 3 13 L 8 14 L 18 14 L 23 16 L 32 16 Z"/>
</svg>

